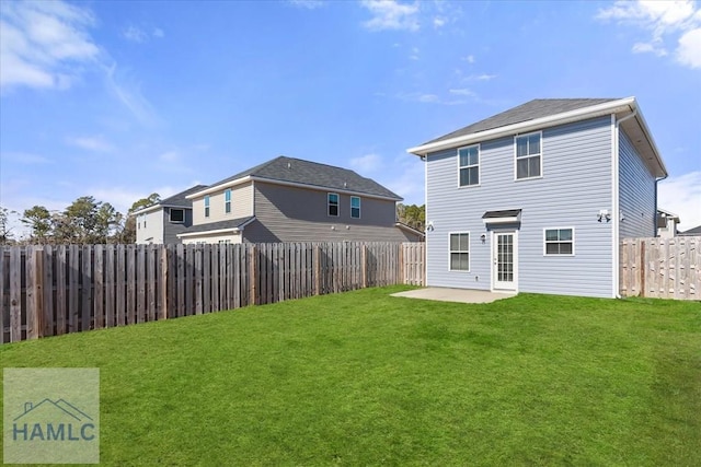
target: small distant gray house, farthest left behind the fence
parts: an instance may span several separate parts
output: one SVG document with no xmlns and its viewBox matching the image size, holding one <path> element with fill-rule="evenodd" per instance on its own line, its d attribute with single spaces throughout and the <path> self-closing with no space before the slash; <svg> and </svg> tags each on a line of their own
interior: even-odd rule
<svg viewBox="0 0 701 467">
<path fill-rule="evenodd" d="M 136 219 L 136 243 L 180 243 L 177 234 L 193 224 L 193 202 L 187 195 L 206 188 L 196 185 L 131 213 Z"/>
</svg>

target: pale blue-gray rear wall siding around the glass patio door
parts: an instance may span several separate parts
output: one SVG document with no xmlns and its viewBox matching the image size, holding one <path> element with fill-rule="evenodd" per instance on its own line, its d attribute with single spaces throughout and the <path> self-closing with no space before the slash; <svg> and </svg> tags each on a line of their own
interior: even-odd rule
<svg viewBox="0 0 701 467">
<path fill-rule="evenodd" d="M 481 185 L 458 188 L 457 150 L 429 154 L 426 220 L 434 230 L 426 235 L 428 285 L 489 290 L 491 232 L 482 215 L 521 209 L 519 291 L 612 296 L 612 225 L 596 217 L 612 209 L 610 117 L 544 130 L 542 157 L 542 178 L 515 180 L 514 138 L 483 142 Z M 575 256 L 544 256 L 547 227 L 574 227 Z M 449 270 L 451 232 L 471 234 L 469 272 Z"/>
</svg>

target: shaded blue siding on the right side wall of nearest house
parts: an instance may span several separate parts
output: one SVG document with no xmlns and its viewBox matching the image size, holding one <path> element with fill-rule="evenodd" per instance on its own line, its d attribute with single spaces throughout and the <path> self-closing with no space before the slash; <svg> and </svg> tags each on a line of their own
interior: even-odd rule
<svg viewBox="0 0 701 467">
<path fill-rule="evenodd" d="M 619 155 L 620 238 L 655 236 L 655 177 L 622 130 Z"/>
</svg>

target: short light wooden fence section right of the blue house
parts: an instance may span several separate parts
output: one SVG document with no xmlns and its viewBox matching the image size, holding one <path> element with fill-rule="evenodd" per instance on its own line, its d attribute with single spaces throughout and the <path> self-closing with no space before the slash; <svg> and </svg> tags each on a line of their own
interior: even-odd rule
<svg viewBox="0 0 701 467">
<path fill-rule="evenodd" d="M 701 300 L 701 236 L 624 238 L 623 296 Z"/>
</svg>

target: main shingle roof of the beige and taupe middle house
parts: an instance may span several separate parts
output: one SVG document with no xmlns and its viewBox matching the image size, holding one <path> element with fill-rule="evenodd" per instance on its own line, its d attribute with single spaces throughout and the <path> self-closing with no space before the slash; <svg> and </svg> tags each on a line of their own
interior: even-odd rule
<svg viewBox="0 0 701 467">
<path fill-rule="evenodd" d="M 374 179 L 365 178 L 348 168 L 320 164 L 318 162 L 304 161 L 301 159 L 287 157 L 285 155 L 280 155 L 272 161 L 264 162 L 263 164 L 256 165 L 248 171 L 240 172 L 233 176 L 219 180 L 216 184 L 210 185 L 210 187 L 222 185 L 249 175 L 271 180 L 290 182 L 327 189 L 348 190 L 394 198 L 398 201 L 402 200 L 399 195 L 384 188 Z"/>
</svg>

